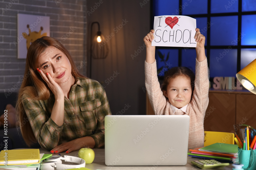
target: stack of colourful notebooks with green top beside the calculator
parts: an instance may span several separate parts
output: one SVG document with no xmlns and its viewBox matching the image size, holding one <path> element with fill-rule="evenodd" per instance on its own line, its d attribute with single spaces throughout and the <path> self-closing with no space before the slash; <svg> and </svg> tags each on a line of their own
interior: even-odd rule
<svg viewBox="0 0 256 170">
<path fill-rule="evenodd" d="M 189 152 L 188 156 L 236 163 L 238 145 L 214 143 L 206 147 L 190 149 L 189 151 L 191 151 L 191 153 Z"/>
</svg>

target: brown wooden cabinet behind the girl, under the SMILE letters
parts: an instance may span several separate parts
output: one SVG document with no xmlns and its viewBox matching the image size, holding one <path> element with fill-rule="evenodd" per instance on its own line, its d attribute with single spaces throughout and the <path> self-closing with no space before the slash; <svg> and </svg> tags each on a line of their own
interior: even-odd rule
<svg viewBox="0 0 256 170">
<path fill-rule="evenodd" d="M 233 132 L 234 124 L 256 128 L 256 95 L 244 91 L 209 90 L 209 104 L 205 114 L 205 131 Z M 146 114 L 154 111 L 146 95 Z"/>
</svg>

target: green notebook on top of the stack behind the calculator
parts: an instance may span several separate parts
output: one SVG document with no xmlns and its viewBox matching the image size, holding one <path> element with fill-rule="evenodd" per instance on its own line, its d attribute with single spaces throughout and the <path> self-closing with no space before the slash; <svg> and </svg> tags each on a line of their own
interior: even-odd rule
<svg viewBox="0 0 256 170">
<path fill-rule="evenodd" d="M 200 148 L 199 151 L 236 155 L 238 152 L 238 145 L 227 143 L 214 143 L 212 145 Z"/>
</svg>

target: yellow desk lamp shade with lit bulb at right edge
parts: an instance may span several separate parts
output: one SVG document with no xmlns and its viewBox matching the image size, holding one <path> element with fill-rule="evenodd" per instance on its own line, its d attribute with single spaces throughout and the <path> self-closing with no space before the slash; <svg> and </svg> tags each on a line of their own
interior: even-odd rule
<svg viewBox="0 0 256 170">
<path fill-rule="evenodd" d="M 237 74 L 237 80 L 249 91 L 256 94 L 256 59 Z"/>
</svg>

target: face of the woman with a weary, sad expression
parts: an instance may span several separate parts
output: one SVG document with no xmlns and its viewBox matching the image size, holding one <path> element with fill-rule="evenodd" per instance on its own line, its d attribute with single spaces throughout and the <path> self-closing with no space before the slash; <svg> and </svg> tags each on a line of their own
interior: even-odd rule
<svg viewBox="0 0 256 170">
<path fill-rule="evenodd" d="M 44 74 L 48 73 L 58 83 L 66 83 L 71 80 L 71 64 L 68 57 L 54 46 L 47 47 L 38 57 L 37 68 Z"/>
</svg>

